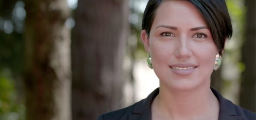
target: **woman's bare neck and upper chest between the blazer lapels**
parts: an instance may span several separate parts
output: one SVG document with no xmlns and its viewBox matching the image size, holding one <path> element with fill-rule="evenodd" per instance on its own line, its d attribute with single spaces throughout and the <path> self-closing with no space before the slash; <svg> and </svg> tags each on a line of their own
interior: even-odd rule
<svg viewBox="0 0 256 120">
<path fill-rule="evenodd" d="M 156 108 L 161 117 L 172 120 L 209 120 L 206 119 L 208 117 L 218 120 L 219 101 L 212 93 L 210 84 L 182 92 L 160 84 L 160 93 L 154 104 L 153 109 Z"/>
</svg>

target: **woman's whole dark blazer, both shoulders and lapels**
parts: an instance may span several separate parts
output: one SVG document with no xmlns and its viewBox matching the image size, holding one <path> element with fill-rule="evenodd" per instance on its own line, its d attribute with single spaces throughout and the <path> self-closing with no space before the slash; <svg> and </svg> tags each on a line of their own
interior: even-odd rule
<svg viewBox="0 0 256 120">
<path fill-rule="evenodd" d="M 220 103 L 219 120 L 256 120 L 256 113 L 233 104 L 216 90 L 211 90 Z M 100 115 L 98 120 L 151 120 L 151 103 L 158 94 L 159 88 L 133 105 Z"/>
</svg>

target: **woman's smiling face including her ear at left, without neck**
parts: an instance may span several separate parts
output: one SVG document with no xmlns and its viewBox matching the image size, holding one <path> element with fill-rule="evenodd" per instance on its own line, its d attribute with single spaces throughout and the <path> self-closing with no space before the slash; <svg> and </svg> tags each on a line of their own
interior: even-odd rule
<svg viewBox="0 0 256 120">
<path fill-rule="evenodd" d="M 187 91 L 210 85 L 218 50 L 192 3 L 163 1 L 156 11 L 149 38 L 143 30 L 141 39 L 151 54 L 160 87 Z"/>
</svg>

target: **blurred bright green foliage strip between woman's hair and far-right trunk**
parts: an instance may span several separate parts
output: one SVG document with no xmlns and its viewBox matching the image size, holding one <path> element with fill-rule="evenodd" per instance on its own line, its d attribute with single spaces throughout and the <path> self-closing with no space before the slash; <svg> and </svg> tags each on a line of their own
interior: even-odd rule
<svg viewBox="0 0 256 120">
<path fill-rule="evenodd" d="M 222 95 L 239 104 L 241 65 L 241 48 L 243 42 L 243 26 L 245 7 L 244 0 L 225 0 L 233 26 L 233 34 L 230 40 L 225 43 L 223 61 L 221 67 L 222 85 L 220 92 Z"/>
</svg>

